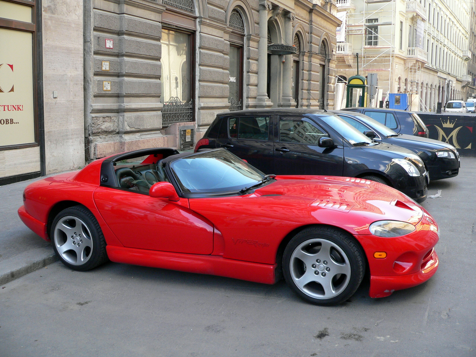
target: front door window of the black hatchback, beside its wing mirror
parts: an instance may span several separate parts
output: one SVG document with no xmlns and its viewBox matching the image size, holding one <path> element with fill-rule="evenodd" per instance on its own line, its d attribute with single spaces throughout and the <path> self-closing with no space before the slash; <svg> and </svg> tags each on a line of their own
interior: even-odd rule
<svg viewBox="0 0 476 357">
<path fill-rule="evenodd" d="M 319 139 L 327 136 L 310 121 L 299 117 L 279 118 L 279 141 L 318 145 Z"/>
</svg>

